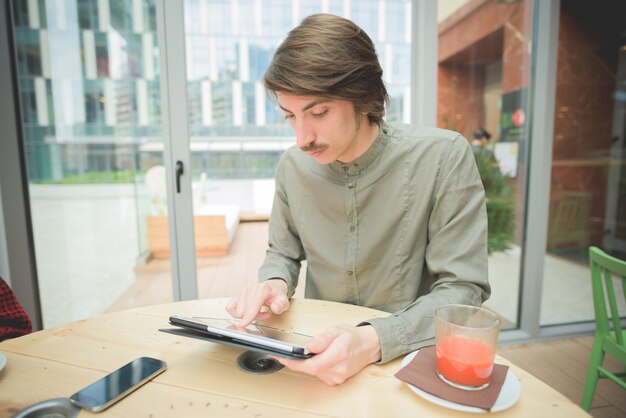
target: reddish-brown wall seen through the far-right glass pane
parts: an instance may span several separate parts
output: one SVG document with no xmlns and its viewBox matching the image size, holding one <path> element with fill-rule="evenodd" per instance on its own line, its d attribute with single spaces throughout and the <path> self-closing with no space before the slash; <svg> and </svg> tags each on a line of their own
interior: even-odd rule
<svg viewBox="0 0 626 418">
<path fill-rule="evenodd" d="M 617 48 L 608 22 L 579 8 L 561 13 L 551 194 L 591 194 L 588 243 L 601 245 L 607 199 Z M 597 17 L 595 17 L 597 18 Z"/>
</svg>

